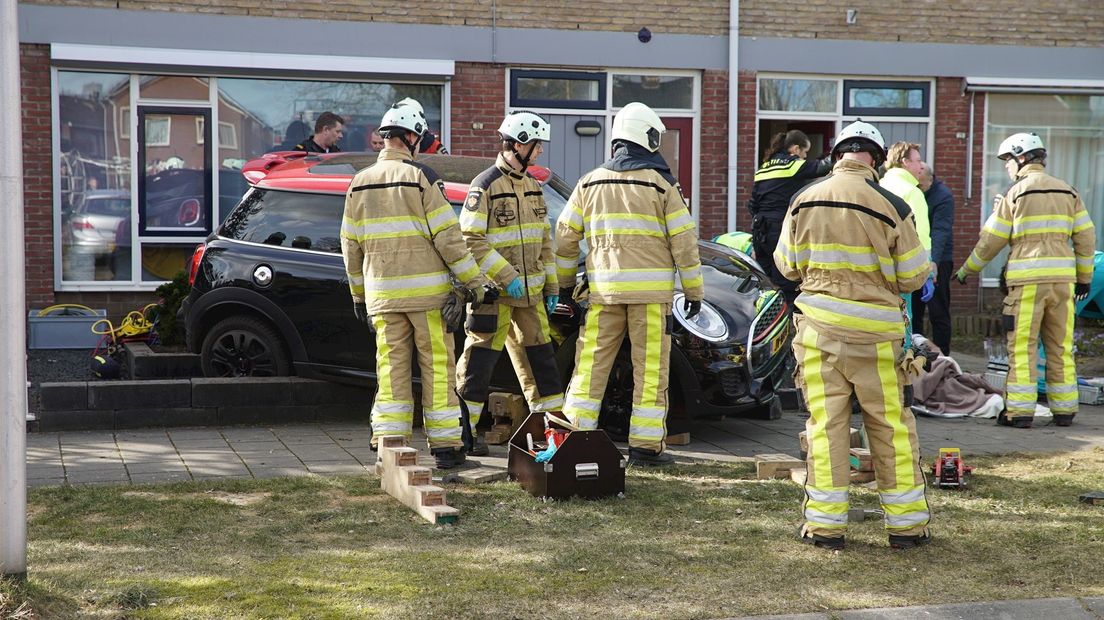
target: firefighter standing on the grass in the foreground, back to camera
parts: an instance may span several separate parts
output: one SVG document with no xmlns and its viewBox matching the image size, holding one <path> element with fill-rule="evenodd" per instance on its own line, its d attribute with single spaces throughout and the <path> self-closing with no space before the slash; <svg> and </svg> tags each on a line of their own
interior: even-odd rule
<svg viewBox="0 0 1104 620">
<path fill-rule="evenodd" d="M 850 483 L 851 394 L 862 408 L 890 546 L 931 541 L 920 445 L 903 406 L 901 293 L 931 271 L 909 205 L 878 184 L 885 159 L 878 129 L 840 131 L 832 174 L 796 196 L 774 260 L 799 280 L 794 355 L 809 408 L 803 542 L 840 549 Z"/>
</svg>

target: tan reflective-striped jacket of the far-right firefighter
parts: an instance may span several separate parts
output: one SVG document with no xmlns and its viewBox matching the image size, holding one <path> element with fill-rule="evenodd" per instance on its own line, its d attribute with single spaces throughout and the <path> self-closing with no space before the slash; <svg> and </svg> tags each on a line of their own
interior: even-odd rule
<svg viewBox="0 0 1104 620">
<path fill-rule="evenodd" d="M 1070 239 L 1073 248 L 1070 248 Z M 1029 163 L 981 226 L 966 270 L 978 272 L 1006 245 L 1008 286 L 1093 279 L 1096 231 L 1085 203 L 1068 183 Z"/>
</svg>

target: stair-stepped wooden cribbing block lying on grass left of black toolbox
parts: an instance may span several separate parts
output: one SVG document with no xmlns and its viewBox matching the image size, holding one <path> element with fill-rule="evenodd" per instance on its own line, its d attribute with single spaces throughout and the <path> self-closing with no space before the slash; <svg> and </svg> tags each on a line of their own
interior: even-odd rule
<svg viewBox="0 0 1104 620">
<path fill-rule="evenodd" d="M 389 443 L 380 446 L 380 488 L 429 523 L 455 523 L 460 511 L 446 504 L 444 489 L 429 484 L 429 468 L 416 464 L 417 450 L 405 441 Z"/>
</svg>

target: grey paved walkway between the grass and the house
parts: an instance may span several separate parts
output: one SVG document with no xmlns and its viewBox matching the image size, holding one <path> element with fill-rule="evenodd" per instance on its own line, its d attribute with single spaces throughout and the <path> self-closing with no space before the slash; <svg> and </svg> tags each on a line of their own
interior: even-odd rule
<svg viewBox="0 0 1104 620">
<path fill-rule="evenodd" d="M 967 370 L 984 362 L 960 357 Z M 746 461 L 755 455 L 797 456 L 797 434 L 806 414 L 787 411 L 778 420 L 702 420 L 688 446 L 671 447 L 680 460 Z M 857 416 L 852 426 L 861 420 Z M 917 419 L 925 460 L 941 447 L 972 455 L 1066 451 L 1104 446 L 1104 407 L 1082 406 L 1074 426 L 1030 430 L 997 426 L 991 419 Z M 361 473 L 375 462 L 367 424 L 311 424 L 272 427 L 159 428 L 126 431 L 35 432 L 28 435 L 30 487 L 51 484 L 142 484 L 210 478 Z M 417 447 L 428 459 L 424 437 Z M 624 445 L 622 446 L 624 449 Z M 492 446 L 484 466 L 506 467 L 505 446 Z"/>
</svg>

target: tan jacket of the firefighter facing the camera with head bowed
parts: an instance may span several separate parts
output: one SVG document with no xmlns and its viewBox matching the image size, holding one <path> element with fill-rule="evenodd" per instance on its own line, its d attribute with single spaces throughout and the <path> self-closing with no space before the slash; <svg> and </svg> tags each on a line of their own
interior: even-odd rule
<svg viewBox="0 0 1104 620">
<path fill-rule="evenodd" d="M 505 289 L 521 278 L 526 296 L 500 295 L 499 303 L 535 306 L 556 295 L 552 227 L 540 183 L 516 171 L 499 153 L 495 165 L 471 181 L 460 211 L 460 232 L 479 270 Z"/>
</svg>

